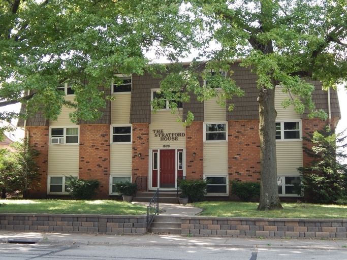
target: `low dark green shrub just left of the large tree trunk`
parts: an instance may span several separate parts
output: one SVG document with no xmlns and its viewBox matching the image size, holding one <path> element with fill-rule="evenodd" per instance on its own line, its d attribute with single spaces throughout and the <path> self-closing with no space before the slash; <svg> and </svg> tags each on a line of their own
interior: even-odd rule
<svg viewBox="0 0 347 260">
<path fill-rule="evenodd" d="M 250 201 L 260 196 L 260 182 L 240 182 L 232 180 L 231 193 L 240 198 L 240 201 Z"/>
</svg>

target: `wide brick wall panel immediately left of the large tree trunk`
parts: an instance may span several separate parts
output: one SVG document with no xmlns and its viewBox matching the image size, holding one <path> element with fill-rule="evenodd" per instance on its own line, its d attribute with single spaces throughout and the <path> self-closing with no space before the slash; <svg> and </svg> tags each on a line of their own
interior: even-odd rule
<svg viewBox="0 0 347 260">
<path fill-rule="evenodd" d="M 259 121 L 228 121 L 230 180 L 260 181 Z"/>
</svg>

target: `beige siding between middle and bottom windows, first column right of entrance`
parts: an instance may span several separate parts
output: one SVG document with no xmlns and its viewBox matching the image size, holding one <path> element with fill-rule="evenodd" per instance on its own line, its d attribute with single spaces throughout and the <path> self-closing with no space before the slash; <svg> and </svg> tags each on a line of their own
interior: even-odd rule
<svg viewBox="0 0 347 260">
<path fill-rule="evenodd" d="M 228 174 L 228 143 L 204 143 L 204 175 Z"/>
</svg>

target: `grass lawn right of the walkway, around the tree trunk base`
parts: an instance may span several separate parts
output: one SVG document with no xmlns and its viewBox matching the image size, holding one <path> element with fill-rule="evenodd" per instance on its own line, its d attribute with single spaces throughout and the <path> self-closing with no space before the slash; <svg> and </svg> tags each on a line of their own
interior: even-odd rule
<svg viewBox="0 0 347 260">
<path fill-rule="evenodd" d="M 347 218 L 347 206 L 309 203 L 282 203 L 283 210 L 257 211 L 252 202 L 198 202 L 200 216 L 267 218 Z"/>
</svg>

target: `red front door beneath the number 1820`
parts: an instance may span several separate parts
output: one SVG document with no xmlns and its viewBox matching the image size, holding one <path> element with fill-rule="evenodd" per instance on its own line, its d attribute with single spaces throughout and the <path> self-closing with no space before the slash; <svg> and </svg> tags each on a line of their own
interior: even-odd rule
<svg viewBox="0 0 347 260">
<path fill-rule="evenodd" d="M 175 150 L 160 150 L 160 187 L 174 188 L 176 180 Z"/>
</svg>

